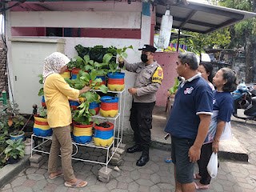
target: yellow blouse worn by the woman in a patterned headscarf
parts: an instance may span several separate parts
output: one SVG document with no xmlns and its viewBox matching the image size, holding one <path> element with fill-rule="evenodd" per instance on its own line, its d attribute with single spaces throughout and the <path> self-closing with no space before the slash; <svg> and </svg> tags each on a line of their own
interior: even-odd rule
<svg viewBox="0 0 256 192">
<path fill-rule="evenodd" d="M 50 128 L 70 125 L 72 117 L 68 98 L 78 98 L 79 90 L 71 88 L 60 74 L 50 74 L 43 90 Z"/>
</svg>

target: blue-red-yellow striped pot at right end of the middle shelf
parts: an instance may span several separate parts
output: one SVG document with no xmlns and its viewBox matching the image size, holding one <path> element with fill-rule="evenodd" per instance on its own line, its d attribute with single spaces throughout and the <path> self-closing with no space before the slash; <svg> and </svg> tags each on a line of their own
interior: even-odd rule
<svg viewBox="0 0 256 192">
<path fill-rule="evenodd" d="M 100 98 L 101 100 L 101 108 L 100 114 L 107 118 L 114 118 L 118 114 L 118 98 L 117 97 L 110 97 L 104 96 Z"/>
</svg>

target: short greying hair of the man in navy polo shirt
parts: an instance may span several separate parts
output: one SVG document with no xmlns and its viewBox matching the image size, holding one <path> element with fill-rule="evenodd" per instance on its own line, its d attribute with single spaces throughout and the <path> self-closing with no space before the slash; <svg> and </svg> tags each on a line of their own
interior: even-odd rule
<svg viewBox="0 0 256 192">
<path fill-rule="evenodd" d="M 184 65 L 187 63 L 191 70 L 198 70 L 198 56 L 192 52 L 178 54 L 178 59 Z"/>
</svg>

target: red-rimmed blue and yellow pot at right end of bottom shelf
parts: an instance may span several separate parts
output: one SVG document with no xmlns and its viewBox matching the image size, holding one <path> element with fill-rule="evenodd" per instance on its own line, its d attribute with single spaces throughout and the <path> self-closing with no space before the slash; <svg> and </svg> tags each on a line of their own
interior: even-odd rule
<svg viewBox="0 0 256 192">
<path fill-rule="evenodd" d="M 94 124 L 94 143 L 96 146 L 110 146 L 114 137 L 114 125 L 111 122 Z"/>
</svg>

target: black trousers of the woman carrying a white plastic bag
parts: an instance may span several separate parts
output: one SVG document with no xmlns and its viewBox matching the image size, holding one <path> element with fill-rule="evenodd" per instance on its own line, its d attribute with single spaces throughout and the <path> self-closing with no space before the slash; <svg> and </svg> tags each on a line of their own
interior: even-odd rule
<svg viewBox="0 0 256 192">
<path fill-rule="evenodd" d="M 199 175 L 202 177 L 200 179 L 200 183 L 202 185 L 209 185 L 210 184 L 210 174 L 208 174 L 207 171 L 207 165 L 210 161 L 210 155 L 213 153 L 212 150 L 213 143 L 207 143 L 205 145 L 202 145 L 201 148 L 201 155 L 200 159 L 198 160 L 198 168 L 199 168 Z"/>
</svg>

